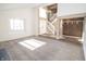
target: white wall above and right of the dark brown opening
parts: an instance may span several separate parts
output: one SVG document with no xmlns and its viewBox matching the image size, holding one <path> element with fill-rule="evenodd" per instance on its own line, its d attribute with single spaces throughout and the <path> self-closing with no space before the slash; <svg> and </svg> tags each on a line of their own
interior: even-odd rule
<svg viewBox="0 0 86 64">
<path fill-rule="evenodd" d="M 59 10 L 58 16 L 66 16 L 71 14 L 86 13 L 86 3 L 59 3 L 58 10 Z M 83 38 L 84 38 L 84 41 L 83 41 L 84 56 L 86 60 L 86 17 L 84 21 Z"/>
</svg>

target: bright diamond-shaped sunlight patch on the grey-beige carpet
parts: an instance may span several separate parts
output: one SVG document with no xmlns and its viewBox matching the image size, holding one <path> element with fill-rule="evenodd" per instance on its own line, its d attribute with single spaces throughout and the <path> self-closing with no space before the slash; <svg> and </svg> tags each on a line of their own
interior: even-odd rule
<svg viewBox="0 0 86 64">
<path fill-rule="evenodd" d="M 46 44 L 46 42 L 40 41 L 40 40 L 36 40 L 36 39 L 24 40 L 24 41 L 19 42 L 19 43 L 22 44 L 23 47 L 29 49 L 29 50 L 35 50 L 35 49 Z"/>
</svg>

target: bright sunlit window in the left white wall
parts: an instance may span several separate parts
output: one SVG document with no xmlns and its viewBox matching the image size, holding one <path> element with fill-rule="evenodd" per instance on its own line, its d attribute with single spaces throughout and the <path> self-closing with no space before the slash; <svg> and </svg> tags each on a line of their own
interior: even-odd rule
<svg viewBox="0 0 86 64">
<path fill-rule="evenodd" d="M 20 18 L 10 20 L 11 30 L 24 30 L 24 21 Z"/>
</svg>

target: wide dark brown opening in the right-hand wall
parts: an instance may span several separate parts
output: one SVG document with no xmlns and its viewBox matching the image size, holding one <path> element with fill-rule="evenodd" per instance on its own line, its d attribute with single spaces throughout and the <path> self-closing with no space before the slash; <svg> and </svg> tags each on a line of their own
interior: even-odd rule
<svg viewBox="0 0 86 64">
<path fill-rule="evenodd" d="M 84 17 L 63 20 L 63 38 L 69 41 L 82 41 Z"/>
</svg>

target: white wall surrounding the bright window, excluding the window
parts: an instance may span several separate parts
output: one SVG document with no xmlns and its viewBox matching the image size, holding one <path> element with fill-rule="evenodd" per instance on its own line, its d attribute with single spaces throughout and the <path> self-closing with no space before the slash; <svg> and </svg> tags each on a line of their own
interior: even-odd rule
<svg viewBox="0 0 86 64">
<path fill-rule="evenodd" d="M 33 8 L 0 11 L 0 41 L 36 35 L 36 15 L 37 11 Z M 24 31 L 12 31 L 10 29 L 10 18 L 24 18 Z"/>
</svg>

